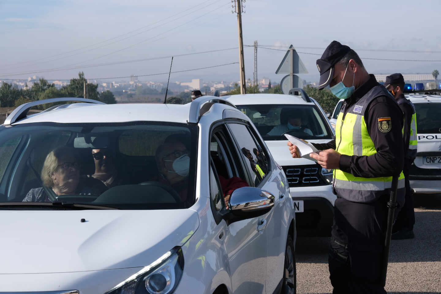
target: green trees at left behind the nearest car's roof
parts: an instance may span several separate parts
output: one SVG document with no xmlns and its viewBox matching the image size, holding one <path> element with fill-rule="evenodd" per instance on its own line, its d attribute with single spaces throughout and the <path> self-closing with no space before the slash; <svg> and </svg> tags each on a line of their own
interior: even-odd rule
<svg viewBox="0 0 441 294">
<path fill-rule="evenodd" d="M 84 98 L 84 82 L 87 87 L 87 98 L 102 101 L 107 104 L 115 104 L 113 93 L 109 90 L 99 93 L 98 84 L 87 83 L 84 72 L 78 73 L 78 78 L 72 78 L 70 84 L 57 89 L 54 84 L 44 78 L 34 82 L 32 87 L 19 89 L 17 85 L 3 83 L 0 87 L 0 107 L 16 107 L 21 104 L 58 97 Z"/>
</svg>

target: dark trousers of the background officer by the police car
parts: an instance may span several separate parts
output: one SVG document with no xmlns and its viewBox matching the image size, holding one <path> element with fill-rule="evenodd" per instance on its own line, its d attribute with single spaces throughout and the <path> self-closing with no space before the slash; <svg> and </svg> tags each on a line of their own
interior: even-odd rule
<svg viewBox="0 0 441 294">
<path fill-rule="evenodd" d="M 412 197 L 411 186 L 409 184 L 409 169 L 412 162 L 410 160 L 404 160 L 403 174 L 406 186 L 406 195 L 403 208 L 401 208 L 396 221 L 394 223 L 394 231 L 398 231 L 404 227 L 408 229 L 413 229 L 415 224 L 415 211 L 414 211 L 414 201 Z"/>
</svg>

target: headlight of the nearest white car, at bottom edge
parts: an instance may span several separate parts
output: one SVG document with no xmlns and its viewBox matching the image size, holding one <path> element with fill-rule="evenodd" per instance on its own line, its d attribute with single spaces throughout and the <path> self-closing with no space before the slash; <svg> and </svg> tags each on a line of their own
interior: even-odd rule
<svg viewBox="0 0 441 294">
<path fill-rule="evenodd" d="M 183 269 L 182 249 L 176 247 L 105 294 L 169 294 L 178 286 Z"/>
</svg>

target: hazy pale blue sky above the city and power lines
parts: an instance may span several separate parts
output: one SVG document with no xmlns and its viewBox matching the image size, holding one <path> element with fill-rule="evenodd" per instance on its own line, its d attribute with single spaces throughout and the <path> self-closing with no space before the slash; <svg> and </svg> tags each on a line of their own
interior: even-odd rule
<svg viewBox="0 0 441 294">
<path fill-rule="evenodd" d="M 86 78 L 166 72 L 169 58 L 63 68 L 237 47 L 237 18 L 231 13 L 231 4 L 230 0 L 0 0 L 0 79 L 27 78 L 34 75 L 27 72 L 53 68 L 62 70 L 36 75 L 68 79 L 81 70 Z M 355 49 L 362 59 L 441 60 L 439 0 L 248 0 L 244 5 L 244 45 L 257 40 L 259 45 L 287 49 L 292 44 L 298 47 L 298 52 L 321 54 L 331 41 L 338 40 Z M 112 40 L 106 41 L 109 39 Z M 373 49 L 422 52 L 369 51 Z M 284 52 L 259 48 L 258 77 L 280 82 L 283 75 L 274 72 L 283 56 Z M 301 78 L 317 81 L 315 60 L 319 56 L 304 53 L 299 56 L 309 71 Z M 172 71 L 238 59 L 237 49 L 177 56 Z M 439 61 L 363 62 L 371 73 L 441 70 Z M 246 47 L 247 78 L 253 78 L 253 67 L 253 49 Z M 162 75 L 140 79 L 164 81 L 166 78 Z M 238 80 L 239 65 L 171 76 L 172 81 L 181 82 L 191 78 Z"/>
</svg>

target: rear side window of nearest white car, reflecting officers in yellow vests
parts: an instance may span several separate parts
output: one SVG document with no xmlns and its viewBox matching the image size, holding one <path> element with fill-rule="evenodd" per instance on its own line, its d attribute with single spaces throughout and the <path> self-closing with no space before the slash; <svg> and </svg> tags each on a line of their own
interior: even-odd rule
<svg viewBox="0 0 441 294">
<path fill-rule="evenodd" d="M 228 127 L 237 142 L 242 159 L 251 175 L 251 181 L 254 186 L 258 186 L 269 170 L 266 154 L 256 143 L 247 126 L 229 123 Z"/>
</svg>

